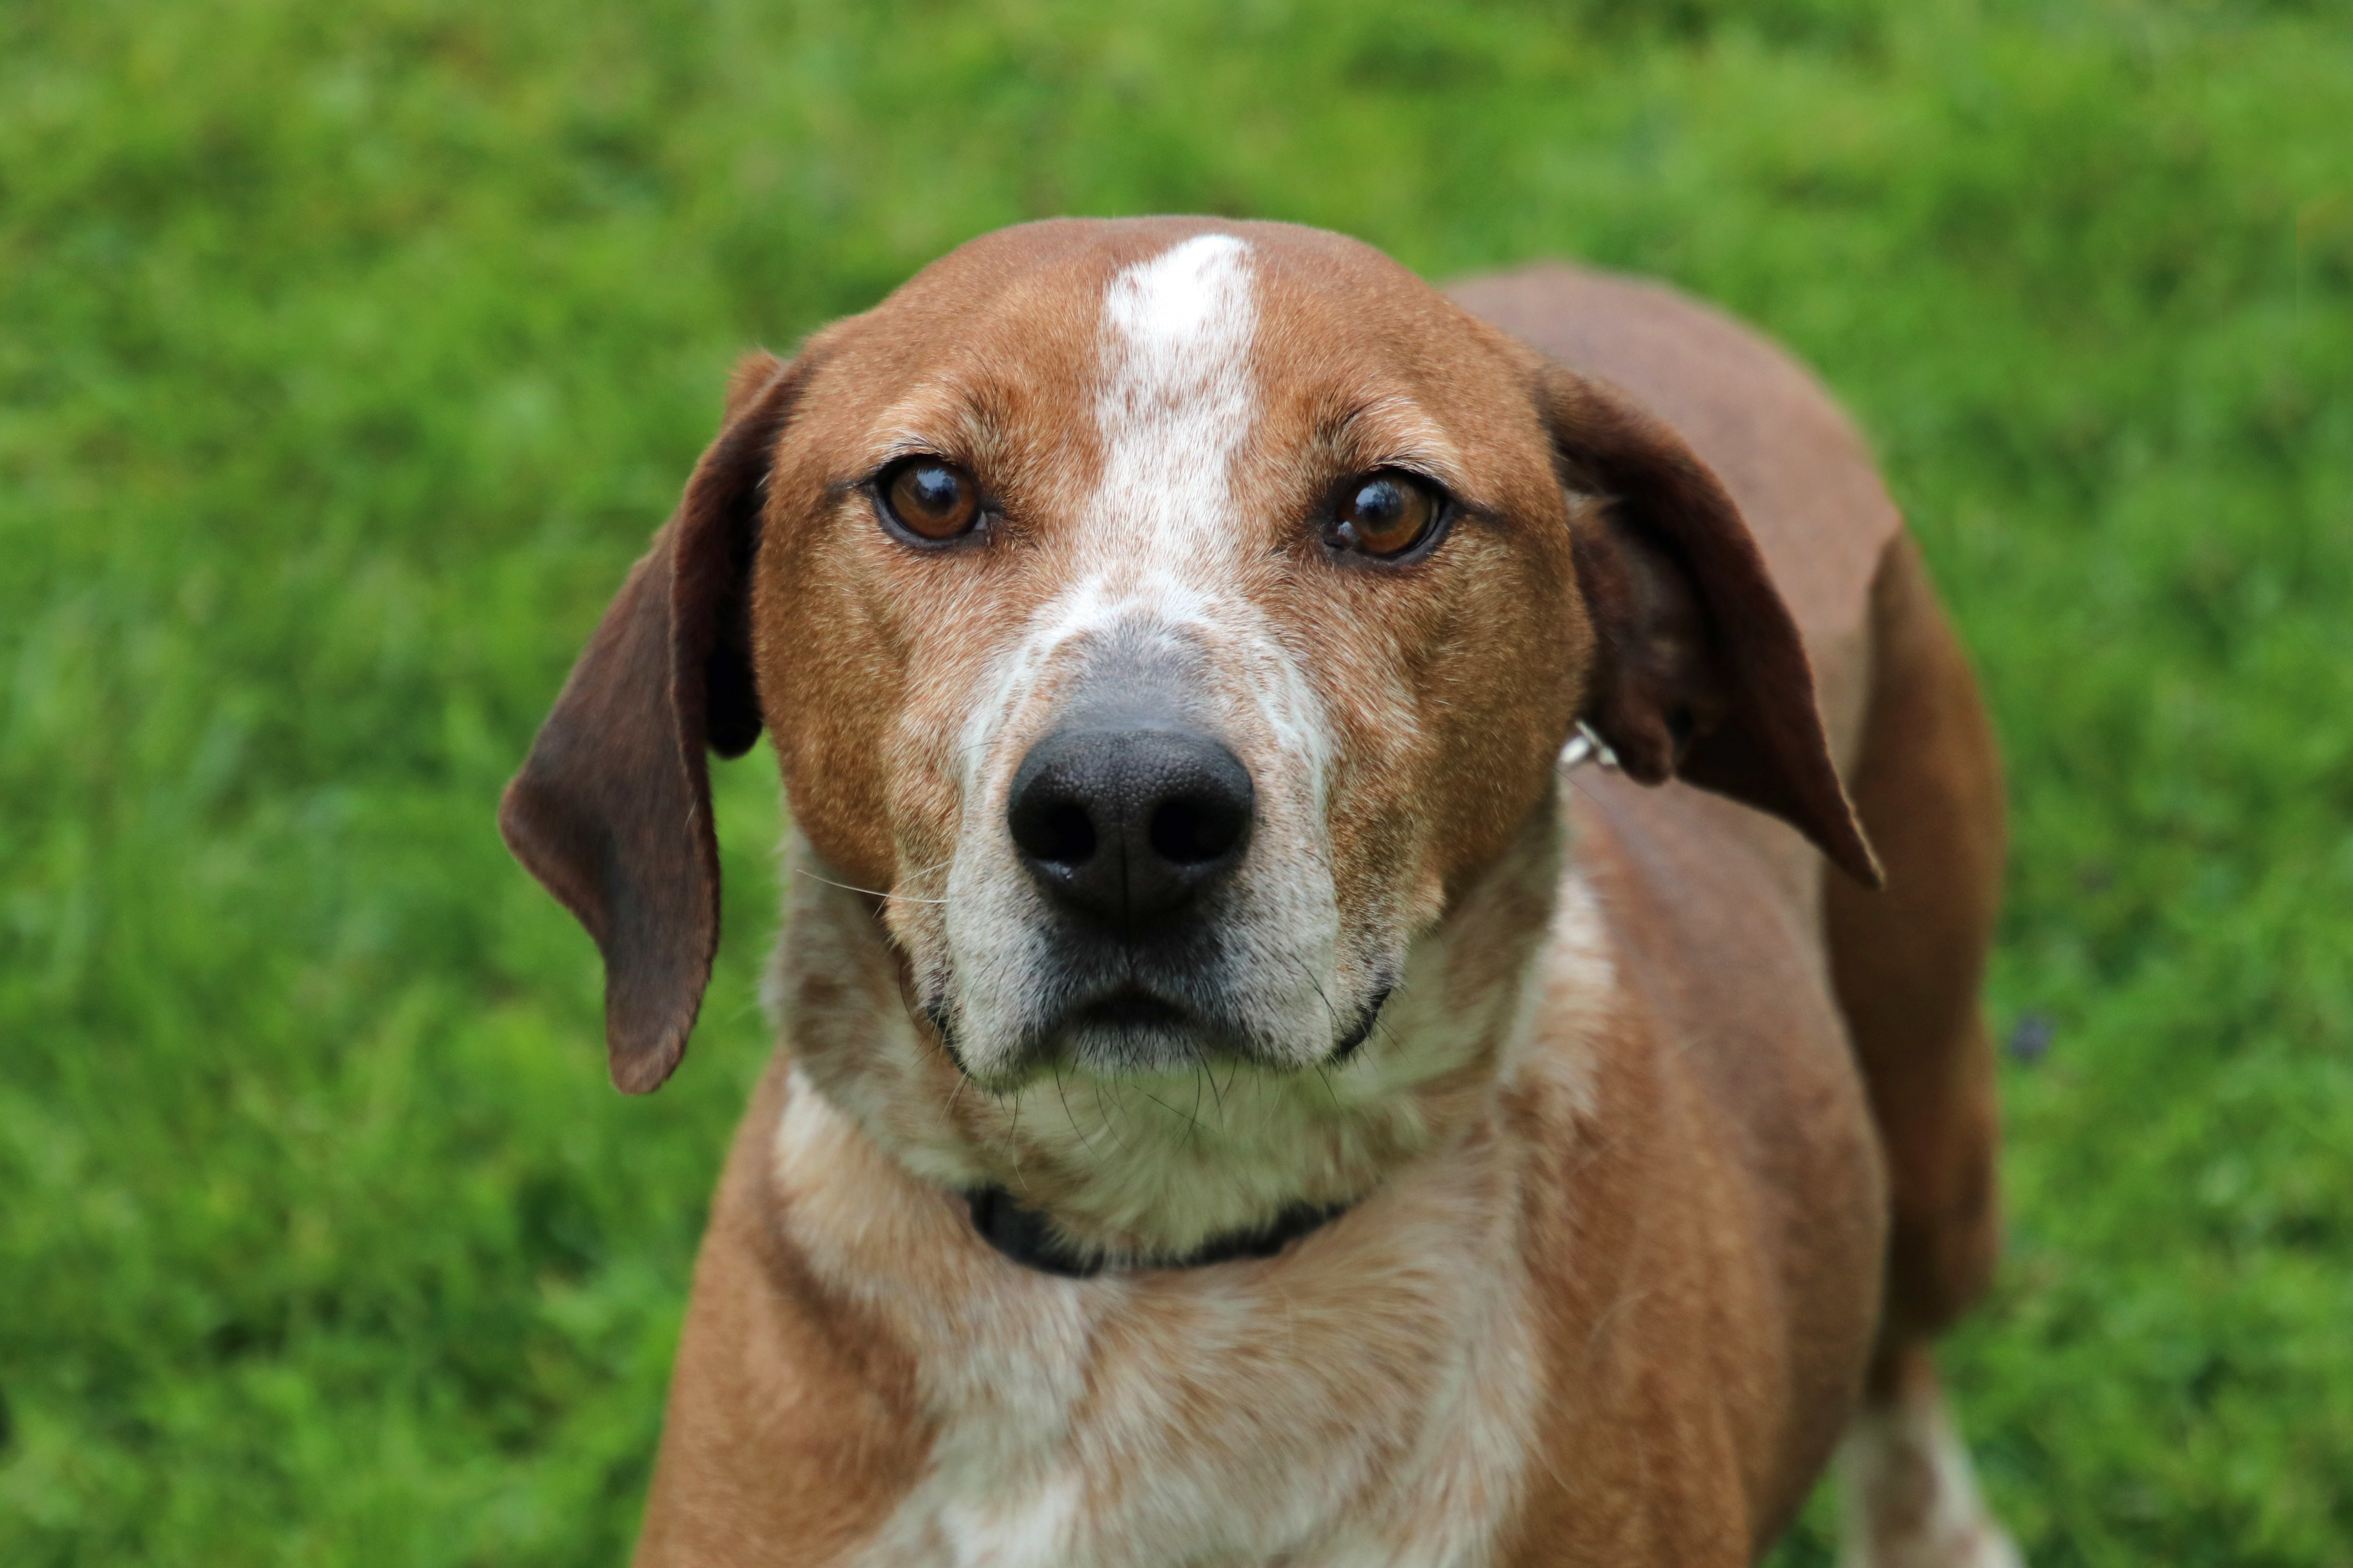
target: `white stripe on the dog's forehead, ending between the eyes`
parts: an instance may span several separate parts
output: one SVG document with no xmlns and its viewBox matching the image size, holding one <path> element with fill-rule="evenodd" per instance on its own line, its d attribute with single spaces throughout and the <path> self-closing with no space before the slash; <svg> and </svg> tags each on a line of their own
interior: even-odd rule
<svg viewBox="0 0 2353 1568">
<path fill-rule="evenodd" d="M 1087 527 L 1118 559 L 1176 569 L 1231 550 L 1228 470 L 1259 416 L 1249 247 L 1195 235 L 1104 294 L 1104 484 Z"/>
</svg>

